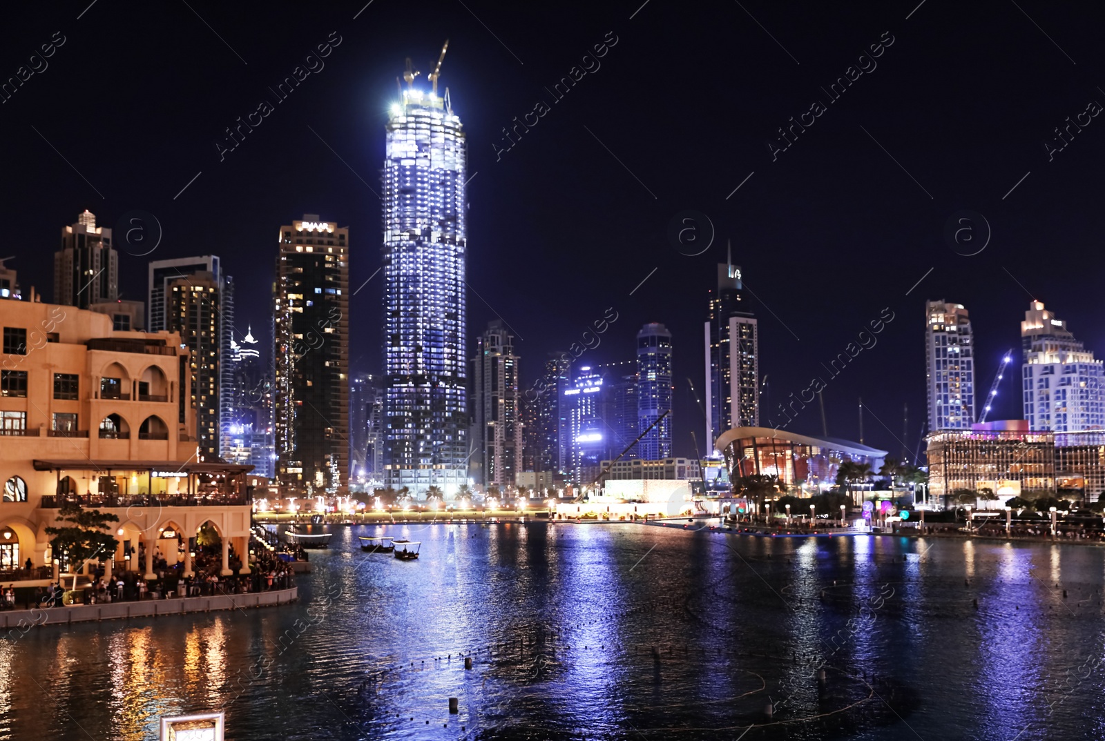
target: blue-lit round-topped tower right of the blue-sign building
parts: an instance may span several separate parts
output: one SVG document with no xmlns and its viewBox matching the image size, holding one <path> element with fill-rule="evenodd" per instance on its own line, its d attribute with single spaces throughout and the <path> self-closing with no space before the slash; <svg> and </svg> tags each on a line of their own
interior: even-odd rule
<svg viewBox="0 0 1105 741">
<path fill-rule="evenodd" d="M 636 334 L 636 375 L 638 430 L 643 433 L 660 420 L 638 443 L 639 455 L 643 461 L 669 458 L 672 455 L 672 334 L 664 325 L 648 324 Z"/>
</svg>

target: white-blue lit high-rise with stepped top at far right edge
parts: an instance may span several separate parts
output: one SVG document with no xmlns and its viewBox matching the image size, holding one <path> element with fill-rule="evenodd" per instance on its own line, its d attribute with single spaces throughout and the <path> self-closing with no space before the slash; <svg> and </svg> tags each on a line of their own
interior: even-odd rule
<svg viewBox="0 0 1105 741">
<path fill-rule="evenodd" d="M 1029 430 L 1105 428 L 1102 361 L 1074 339 L 1066 321 L 1033 300 L 1021 322 L 1021 384 Z"/>
</svg>

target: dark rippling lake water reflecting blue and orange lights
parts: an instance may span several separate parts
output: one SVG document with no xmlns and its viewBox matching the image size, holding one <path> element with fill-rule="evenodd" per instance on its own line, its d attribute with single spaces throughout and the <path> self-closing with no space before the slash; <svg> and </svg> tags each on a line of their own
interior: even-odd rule
<svg viewBox="0 0 1105 741">
<path fill-rule="evenodd" d="M 334 531 L 294 605 L 0 641 L 0 739 L 156 739 L 162 714 L 218 710 L 234 740 L 1105 733 L 1103 549 Z M 421 559 L 362 553 L 358 534 L 421 540 Z"/>
</svg>

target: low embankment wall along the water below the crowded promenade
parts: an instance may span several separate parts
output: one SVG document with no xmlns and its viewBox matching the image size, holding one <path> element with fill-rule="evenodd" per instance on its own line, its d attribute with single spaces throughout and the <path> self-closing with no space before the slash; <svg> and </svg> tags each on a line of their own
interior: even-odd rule
<svg viewBox="0 0 1105 741">
<path fill-rule="evenodd" d="M 160 615 L 183 615 L 210 612 L 212 610 L 239 610 L 250 607 L 278 606 L 298 600 L 298 589 L 251 592 L 248 594 L 218 594 L 209 597 L 177 597 L 173 600 L 147 600 L 144 602 L 112 602 L 95 605 L 70 605 L 65 607 L 43 607 L 12 610 L 0 613 L 3 635 L 9 632 L 20 634 L 36 625 L 69 625 L 102 620 L 124 620 L 130 617 L 157 617 Z"/>
</svg>

